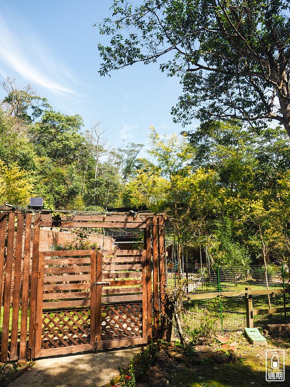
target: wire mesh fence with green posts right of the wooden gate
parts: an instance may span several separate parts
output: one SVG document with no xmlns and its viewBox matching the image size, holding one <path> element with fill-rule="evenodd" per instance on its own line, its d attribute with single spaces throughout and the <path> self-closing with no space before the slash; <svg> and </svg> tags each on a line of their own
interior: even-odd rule
<svg viewBox="0 0 290 387">
<path fill-rule="evenodd" d="M 274 294 L 274 289 L 289 287 L 288 267 L 264 266 L 220 267 L 216 271 L 208 268 L 197 272 L 185 272 L 181 275 L 168 272 L 168 291 L 198 295 L 198 299 L 188 299 L 182 303 L 181 325 L 185 334 L 190 334 L 199 327 L 214 326 L 217 332 L 239 331 L 247 326 L 245 295 L 227 292 L 245 292 L 245 289 L 273 289 L 269 295 L 253 296 L 253 309 L 283 308 L 290 305 L 290 294 Z M 223 295 L 210 295 L 221 293 Z M 202 295 L 204 294 L 204 298 Z M 284 324 L 290 322 L 290 313 L 274 313 L 254 316 L 254 327 L 265 328 L 267 324 Z"/>
</svg>

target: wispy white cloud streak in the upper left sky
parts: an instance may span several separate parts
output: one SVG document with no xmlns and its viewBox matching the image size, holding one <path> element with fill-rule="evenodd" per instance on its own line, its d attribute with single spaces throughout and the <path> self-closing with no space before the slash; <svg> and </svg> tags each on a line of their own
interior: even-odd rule
<svg viewBox="0 0 290 387">
<path fill-rule="evenodd" d="M 58 79 L 73 80 L 69 69 L 61 68 L 44 45 L 32 36 L 24 33 L 15 35 L 0 15 L 0 65 L 2 75 L 12 70 L 33 85 L 39 85 L 50 92 L 62 96 L 76 95 Z M 2 63 L 1 63 L 2 62 Z M 3 67 L 6 67 L 4 71 Z M 10 75 L 10 74 L 9 74 Z"/>
</svg>

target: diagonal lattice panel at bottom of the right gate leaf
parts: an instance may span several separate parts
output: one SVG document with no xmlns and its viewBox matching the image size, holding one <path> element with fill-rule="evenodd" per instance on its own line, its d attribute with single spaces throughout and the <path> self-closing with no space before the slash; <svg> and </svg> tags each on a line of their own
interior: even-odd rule
<svg viewBox="0 0 290 387">
<path fill-rule="evenodd" d="M 141 303 L 102 306 L 102 341 L 141 337 L 141 307 Z"/>
</svg>

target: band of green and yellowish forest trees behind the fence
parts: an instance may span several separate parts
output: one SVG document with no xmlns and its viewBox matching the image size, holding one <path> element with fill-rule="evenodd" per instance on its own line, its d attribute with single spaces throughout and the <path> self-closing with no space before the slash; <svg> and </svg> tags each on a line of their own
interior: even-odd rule
<svg viewBox="0 0 290 387">
<path fill-rule="evenodd" d="M 1 205 L 25 207 L 33 196 L 52 210 L 162 211 L 179 256 L 186 245 L 206 247 L 213 265 L 290 259 L 290 140 L 281 126 L 249 133 L 240 120 L 208 120 L 182 135 L 151 126 L 141 158 L 142 144 L 109 149 L 101 122 L 86 128 L 30 87 L 5 87 Z"/>
</svg>

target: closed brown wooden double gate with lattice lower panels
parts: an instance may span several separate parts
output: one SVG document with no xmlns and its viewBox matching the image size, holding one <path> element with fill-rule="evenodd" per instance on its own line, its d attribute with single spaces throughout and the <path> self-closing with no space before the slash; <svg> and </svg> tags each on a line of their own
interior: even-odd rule
<svg viewBox="0 0 290 387">
<path fill-rule="evenodd" d="M 34 357 L 146 343 L 147 266 L 146 250 L 41 251 Z"/>
</svg>

